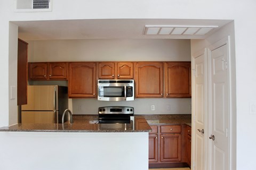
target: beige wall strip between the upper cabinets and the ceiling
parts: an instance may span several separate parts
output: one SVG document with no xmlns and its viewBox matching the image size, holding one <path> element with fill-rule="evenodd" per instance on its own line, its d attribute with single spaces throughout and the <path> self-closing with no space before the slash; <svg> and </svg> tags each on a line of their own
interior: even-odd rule
<svg viewBox="0 0 256 170">
<path fill-rule="evenodd" d="M 29 62 L 190 61 L 190 40 L 87 39 L 28 43 Z"/>
</svg>

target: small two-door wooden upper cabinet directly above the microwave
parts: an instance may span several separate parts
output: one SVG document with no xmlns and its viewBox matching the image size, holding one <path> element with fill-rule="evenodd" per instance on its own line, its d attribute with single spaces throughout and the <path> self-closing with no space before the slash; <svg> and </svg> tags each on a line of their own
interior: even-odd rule
<svg viewBox="0 0 256 170">
<path fill-rule="evenodd" d="M 132 62 L 99 63 L 99 79 L 133 79 Z"/>
</svg>

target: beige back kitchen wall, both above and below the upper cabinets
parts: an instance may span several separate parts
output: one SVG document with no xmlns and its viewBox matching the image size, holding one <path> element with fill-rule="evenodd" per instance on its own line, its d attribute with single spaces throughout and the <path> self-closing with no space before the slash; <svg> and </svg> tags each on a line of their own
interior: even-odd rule
<svg viewBox="0 0 256 170">
<path fill-rule="evenodd" d="M 29 62 L 191 60 L 190 40 L 93 39 L 43 40 L 28 41 L 28 43 Z M 155 105 L 155 111 L 151 111 L 151 105 Z M 170 110 L 167 110 L 167 105 L 170 105 Z M 78 110 L 79 106 L 81 110 Z M 73 110 L 73 114 L 97 114 L 98 107 L 101 106 L 131 106 L 134 107 L 135 114 L 191 114 L 190 98 L 142 98 L 128 102 L 106 102 L 97 99 L 69 100 L 69 108 Z"/>
</svg>

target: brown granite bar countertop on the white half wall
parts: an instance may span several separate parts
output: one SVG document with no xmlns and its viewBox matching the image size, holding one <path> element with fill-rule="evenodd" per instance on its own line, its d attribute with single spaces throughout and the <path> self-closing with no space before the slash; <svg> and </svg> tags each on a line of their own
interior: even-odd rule
<svg viewBox="0 0 256 170">
<path fill-rule="evenodd" d="M 87 118 L 87 119 L 86 119 Z M 134 121 L 122 124 L 99 124 L 94 117 L 75 118 L 73 124 L 15 124 L 0 128 L 8 132 L 150 132 L 151 128 L 145 118 L 134 116 Z M 89 119 L 88 119 L 89 118 Z"/>
</svg>

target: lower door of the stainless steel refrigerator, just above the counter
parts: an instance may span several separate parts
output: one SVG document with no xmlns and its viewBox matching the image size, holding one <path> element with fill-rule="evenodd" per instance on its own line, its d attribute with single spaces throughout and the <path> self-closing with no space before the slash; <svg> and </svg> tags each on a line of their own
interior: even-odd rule
<svg viewBox="0 0 256 170">
<path fill-rule="evenodd" d="M 21 112 L 21 123 L 57 123 L 58 112 L 27 111 Z"/>
</svg>

